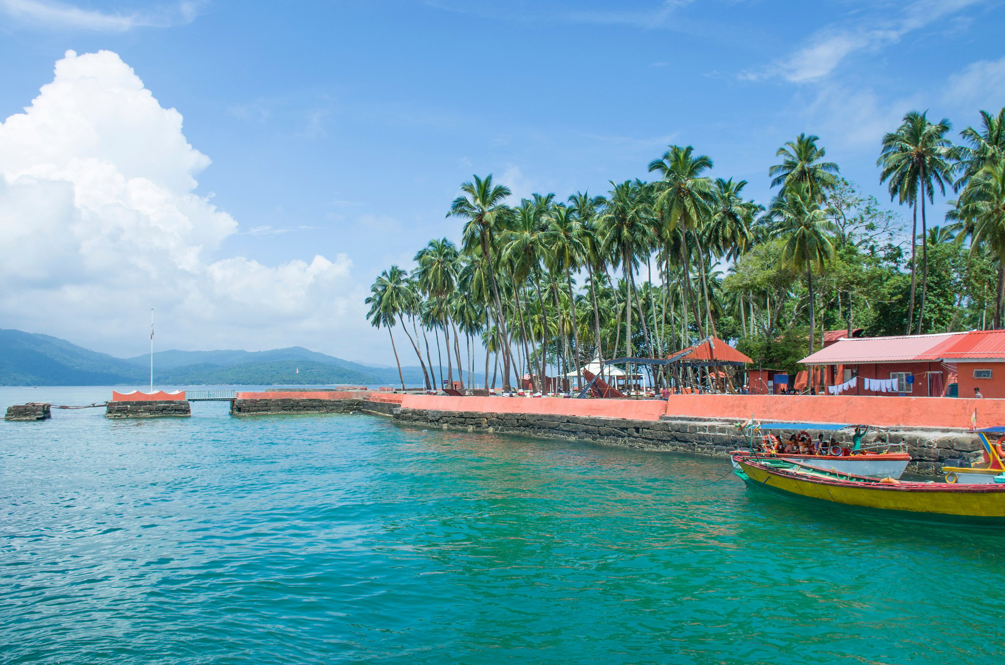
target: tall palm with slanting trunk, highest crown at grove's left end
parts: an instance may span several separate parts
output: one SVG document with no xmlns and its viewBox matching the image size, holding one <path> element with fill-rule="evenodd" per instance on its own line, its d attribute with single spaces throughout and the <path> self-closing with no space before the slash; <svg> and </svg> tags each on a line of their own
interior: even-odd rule
<svg viewBox="0 0 1005 665">
<path fill-rule="evenodd" d="M 493 185 L 489 174 L 484 179 L 473 176 L 473 182 L 460 186 L 464 194 L 450 205 L 447 217 L 466 219 L 463 230 L 463 249 L 467 253 L 480 252 L 486 262 L 492 300 L 495 303 L 495 322 L 501 336 L 502 390 L 511 391 L 510 385 L 510 337 L 506 327 L 506 312 L 499 298 L 498 280 L 495 275 L 494 239 L 505 228 L 512 216 L 512 210 L 505 201 L 512 192 L 504 185 Z"/>
</svg>

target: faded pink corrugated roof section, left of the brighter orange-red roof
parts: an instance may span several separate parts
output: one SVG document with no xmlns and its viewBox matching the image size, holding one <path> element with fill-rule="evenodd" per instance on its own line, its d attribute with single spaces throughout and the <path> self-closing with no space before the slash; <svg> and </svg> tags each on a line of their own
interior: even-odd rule
<svg viewBox="0 0 1005 665">
<path fill-rule="evenodd" d="M 857 363 L 898 363 L 934 361 L 948 343 L 967 335 L 901 335 L 892 338 L 840 340 L 799 361 L 803 365 L 854 365 Z"/>
</svg>

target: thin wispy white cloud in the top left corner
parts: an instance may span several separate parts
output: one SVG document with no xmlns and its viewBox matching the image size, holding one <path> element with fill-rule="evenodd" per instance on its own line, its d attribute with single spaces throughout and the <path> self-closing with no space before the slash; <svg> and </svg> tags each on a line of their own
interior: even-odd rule
<svg viewBox="0 0 1005 665">
<path fill-rule="evenodd" d="M 100 32 L 126 32 L 140 27 L 170 27 L 191 23 L 196 2 L 152 7 L 143 12 L 100 12 L 45 0 L 0 0 L 0 11 L 12 18 L 47 28 L 72 28 Z"/>
</svg>

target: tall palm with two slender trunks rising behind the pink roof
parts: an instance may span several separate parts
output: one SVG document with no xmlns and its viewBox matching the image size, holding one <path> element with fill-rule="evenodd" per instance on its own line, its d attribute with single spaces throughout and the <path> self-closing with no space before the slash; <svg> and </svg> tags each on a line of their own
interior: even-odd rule
<svg viewBox="0 0 1005 665">
<path fill-rule="evenodd" d="M 910 112 L 896 132 L 886 134 L 882 139 L 882 152 L 876 166 L 882 168 L 879 182 L 889 181 L 889 198 L 897 197 L 900 204 L 914 207 L 914 224 L 911 231 L 911 301 L 908 305 L 908 334 L 911 332 L 915 315 L 916 281 L 916 238 L 918 236 L 918 202 L 922 203 L 922 304 L 918 312 L 918 332 L 922 331 L 925 319 L 925 296 L 929 274 L 929 245 L 925 218 L 925 200 L 934 202 L 935 188 L 946 194 L 946 186 L 952 185 L 953 160 L 958 151 L 946 139 L 951 125 L 948 119 L 933 125 L 928 112 Z"/>
</svg>

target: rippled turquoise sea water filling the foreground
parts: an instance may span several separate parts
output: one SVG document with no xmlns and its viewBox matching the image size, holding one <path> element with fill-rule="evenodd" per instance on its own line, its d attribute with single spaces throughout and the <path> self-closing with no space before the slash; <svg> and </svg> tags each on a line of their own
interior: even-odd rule
<svg viewBox="0 0 1005 665">
<path fill-rule="evenodd" d="M 1005 530 L 712 482 L 725 459 L 103 414 L 0 422 L 0 662 L 1001 661 Z"/>
</svg>

